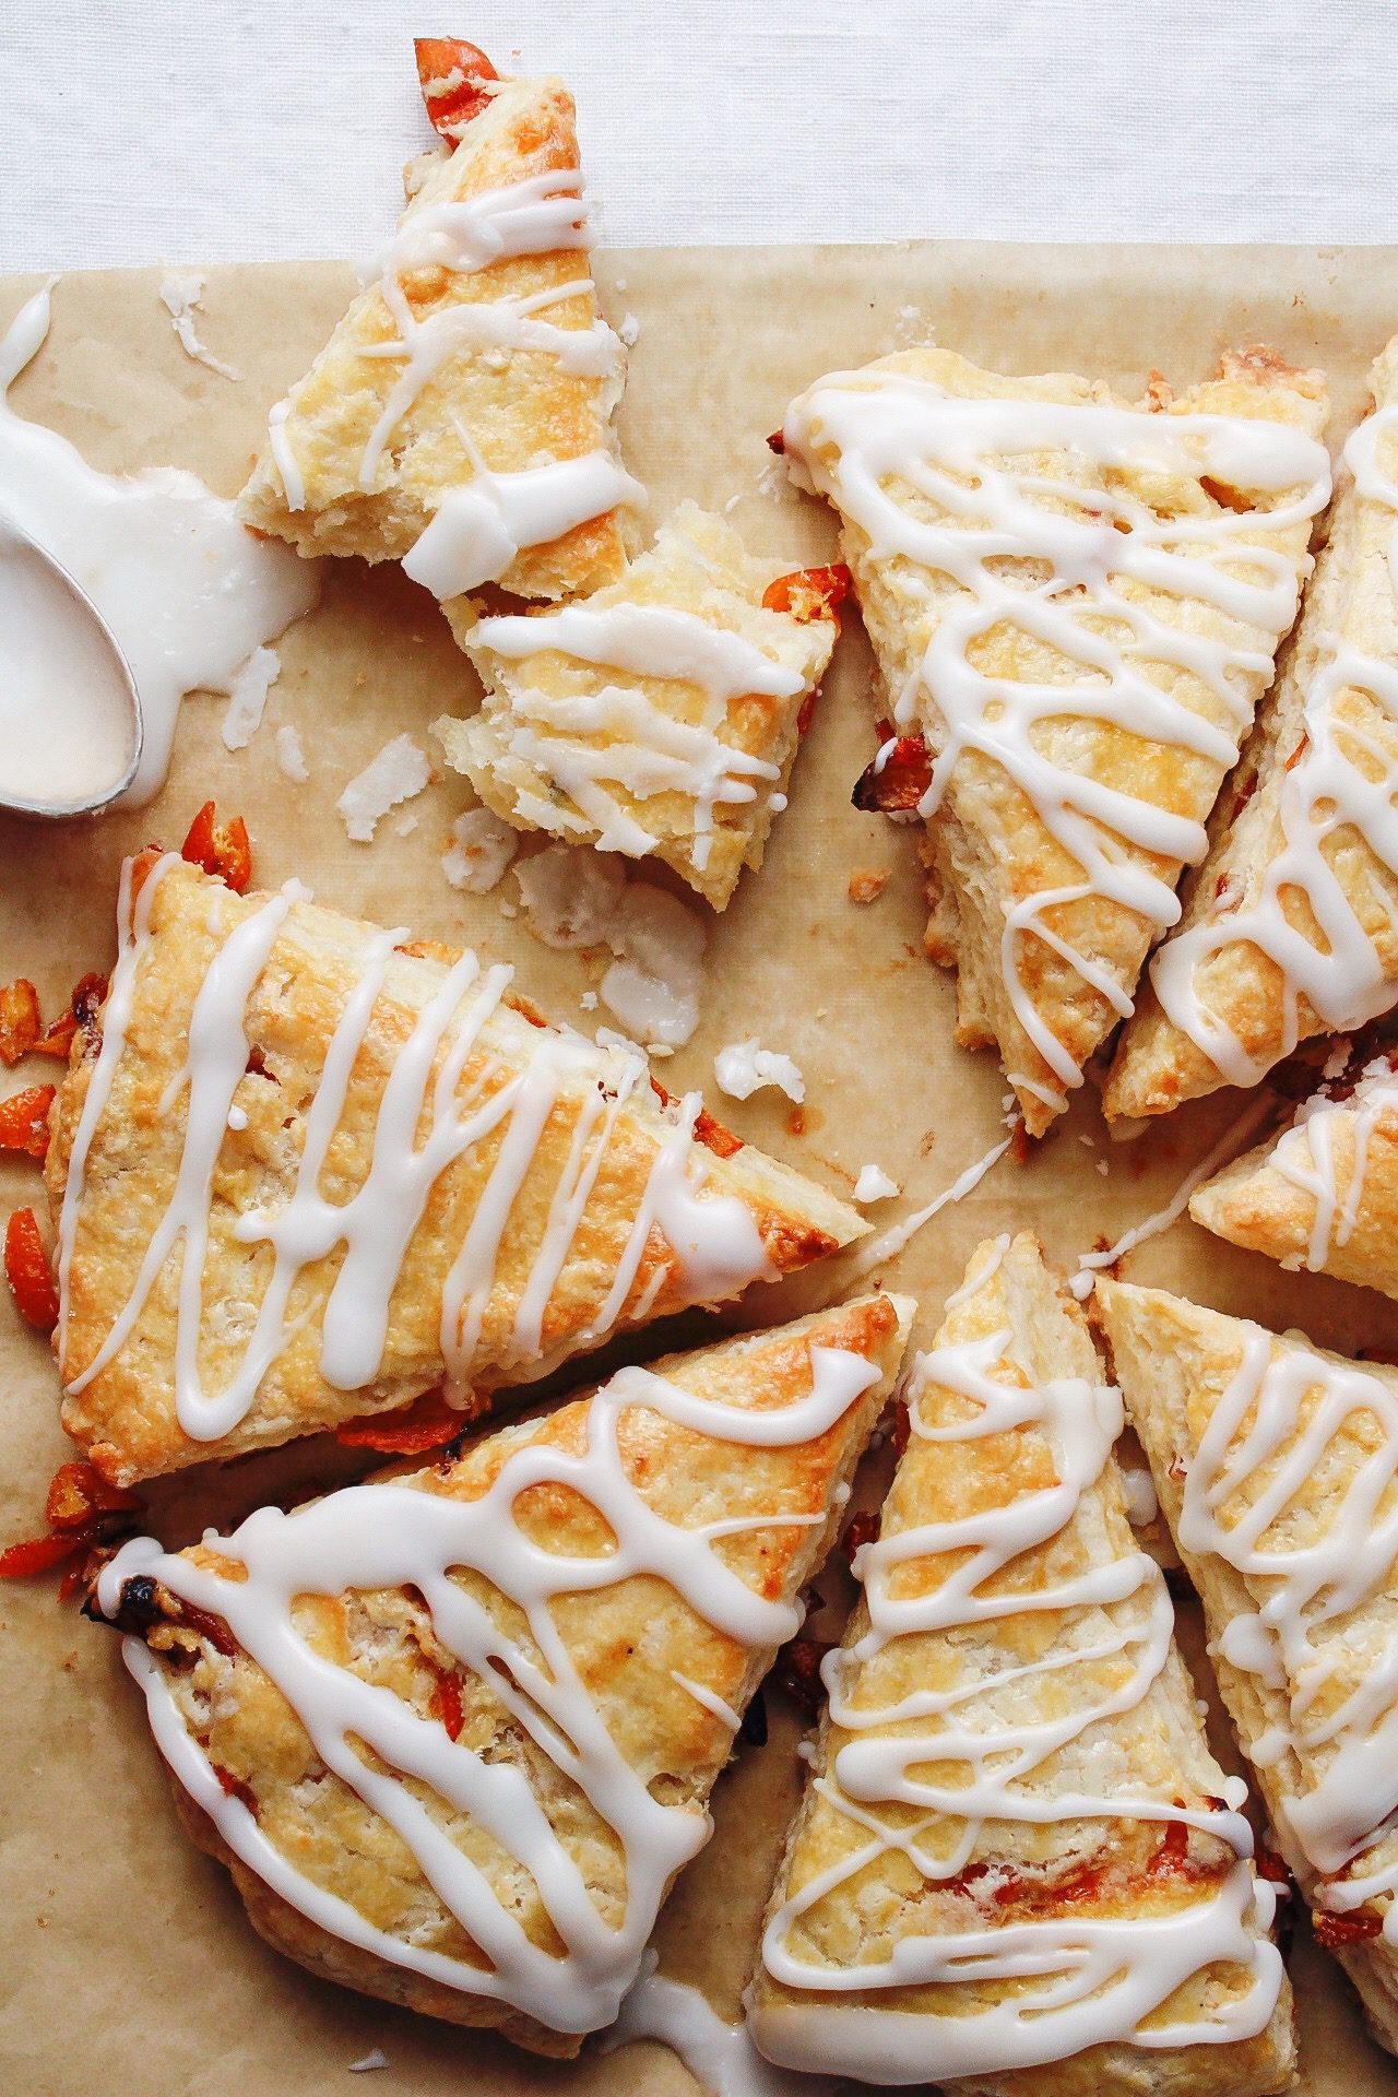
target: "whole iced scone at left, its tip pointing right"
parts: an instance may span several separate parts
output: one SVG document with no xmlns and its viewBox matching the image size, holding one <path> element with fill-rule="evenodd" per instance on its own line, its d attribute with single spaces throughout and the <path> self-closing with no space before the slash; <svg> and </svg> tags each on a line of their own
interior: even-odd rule
<svg viewBox="0 0 1398 2097">
<path fill-rule="evenodd" d="M 405 1405 L 480 1409 L 866 1229 L 547 1025 L 511 971 L 168 856 L 122 898 L 48 1193 L 63 1424 L 122 1483 Z"/>
</svg>

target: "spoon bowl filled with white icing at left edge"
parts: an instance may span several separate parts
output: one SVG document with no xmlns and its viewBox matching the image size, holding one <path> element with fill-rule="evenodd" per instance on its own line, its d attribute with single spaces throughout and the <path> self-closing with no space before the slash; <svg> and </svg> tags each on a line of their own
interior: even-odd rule
<svg viewBox="0 0 1398 2097">
<path fill-rule="evenodd" d="M 136 778 L 140 694 L 82 583 L 0 512 L 0 812 L 61 822 Z"/>
</svg>

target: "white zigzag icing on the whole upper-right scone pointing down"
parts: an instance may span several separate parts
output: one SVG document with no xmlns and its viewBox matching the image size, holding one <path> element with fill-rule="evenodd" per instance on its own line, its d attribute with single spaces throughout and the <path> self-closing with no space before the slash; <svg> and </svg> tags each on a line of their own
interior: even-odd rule
<svg viewBox="0 0 1398 2097">
<path fill-rule="evenodd" d="M 834 447 L 834 457 L 822 457 L 822 447 Z M 956 765 L 975 751 L 1008 774 L 1082 868 L 1079 879 L 1025 895 L 1006 912 L 1002 935 L 1014 1017 L 1054 1078 L 1073 1088 L 1082 1072 L 1025 990 L 1021 942 L 1048 946 L 1113 1011 L 1130 1015 L 1130 986 L 1073 948 L 1048 916 L 1092 895 L 1163 931 L 1180 916 L 1174 874 L 1155 870 L 1146 856 L 1191 866 L 1203 858 L 1207 837 L 1203 824 L 1056 761 L 1035 730 L 1065 717 L 1107 721 L 1203 757 L 1222 778 L 1251 721 L 1247 684 L 1270 679 L 1304 568 L 1253 541 L 1325 505 L 1329 455 L 1314 438 L 1276 421 L 952 398 L 903 371 L 822 380 L 788 413 L 786 451 L 805 482 L 870 537 L 870 560 L 901 556 L 964 593 L 939 602 L 922 663 L 893 694 L 893 717 L 899 728 L 922 726 L 931 736 L 935 763 L 922 816 L 941 807 Z M 1088 482 L 1054 472 L 1052 463 L 998 463 L 1042 453 L 1082 461 Z M 1161 518 L 1123 487 L 1102 487 L 1113 470 L 1195 484 L 1211 478 L 1262 497 L 1293 493 L 1272 510 L 1209 503 L 1207 514 L 1201 495 L 1199 516 Z M 908 510 L 884 487 L 895 478 L 935 501 L 945 520 L 924 522 Z M 1054 501 L 1073 503 L 1073 514 L 1048 507 Z M 929 585 L 914 575 L 903 575 L 903 583 L 931 606 Z M 1176 600 L 1178 623 L 1140 602 L 1140 591 Z M 1230 637 L 1191 631 L 1193 608 L 1222 612 Z M 981 671 L 973 661 L 977 642 L 1006 625 L 1071 665 L 1071 682 L 1033 684 Z M 1157 684 L 1153 665 L 1182 673 L 1184 692 Z M 1224 711 L 1228 728 L 1197 711 L 1205 702 Z"/>
</svg>

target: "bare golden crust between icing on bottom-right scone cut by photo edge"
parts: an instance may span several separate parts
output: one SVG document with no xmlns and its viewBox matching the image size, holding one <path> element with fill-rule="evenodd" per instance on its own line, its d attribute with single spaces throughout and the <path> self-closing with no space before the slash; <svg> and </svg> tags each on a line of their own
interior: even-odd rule
<svg viewBox="0 0 1398 2097">
<path fill-rule="evenodd" d="M 1302 1894 L 1314 1904 L 1316 1871 L 1289 1837 L 1287 1808 L 1316 1787 L 1333 1743 L 1316 1759 L 1314 1751 L 1297 1743 L 1291 1732 L 1293 1696 L 1297 1707 L 1306 1707 L 1297 1686 L 1291 1682 L 1270 1684 L 1264 1676 L 1232 1665 L 1226 1652 L 1218 1650 L 1228 1625 L 1255 1617 L 1274 1581 L 1251 1579 L 1216 1552 L 1199 1556 L 1180 1543 L 1184 1476 L 1199 1453 L 1199 1441 L 1222 1392 L 1243 1361 L 1243 1346 L 1258 1336 L 1260 1327 L 1224 1317 L 1220 1311 L 1205 1311 L 1201 1304 L 1191 1304 L 1163 1290 L 1142 1290 L 1126 1281 L 1098 1279 L 1096 1302 L 1111 1346 L 1113 1371 L 1121 1384 L 1132 1426 L 1151 1462 L 1159 1504 L 1203 1602 L 1209 1657 L 1222 1701 L 1239 1745 L 1251 1761 L 1287 1864 Z M 1302 1348 L 1323 1363 L 1356 1367 L 1344 1355 L 1312 1346 L 1302 1334 L 1272 1338 L 1270 1359 L 1276 1361 Z M 1383 1363 L 1358 1367 L 1398 1397 L 1398 1369 Z M 1316 1455 L 1306 1483 L 1289 1497 L 1272 1525 L 1283 1554 L 1287 1548 L 1304 1548 L 1325 1533 L 1333 1495 L 1344 1493 L 1354 1474 L 1373 1460 L 1379 1441 L 1377 1420 L 1367 1420 L 1364 1413 L 1348 1415 Z M 1230 1451 L 1237 1455 L 1237 1441 L 1230 1443 Z M 1230 1497 L 1237 1508 L 1239 1497 Z M 1325 1713 L 1339 1711 L 1348 1696 L 1362 1690 L 1364 1682 L 1381 1678 L 1392 1667 L 1388 1655 L 1396 1613 L 1398 1577 L 1390 1575 L 1381 1594 L 1335 1619 L 1325 1642 L 1325 1659 L 1333 1671 L 1316 1692 L 1316 1701 L 1306 1707 L 1314 1722 L 1323 1720 Z M 1255 1757 L 1253 1751 L 1268 1734 L 1272 1741 L 1285 1738 L 1287 1745 L 1279 1755 L 1268 1749 Z M 1364 1871 L 1392 1871 L 1394 1862 L 1398 1862 L 1398 1835 L 1394 1833 L 1364 1852 Z M 1392 1896 L 1379 1894 L 1373 1906 L 1385 1912 L 1392 1906 Z M 1375 2038 L 1390 2053 L 1398 2053 L 1398 1957 L 1394 1948 L 1383 1936 L 1373 1936 L 1358 1944 L 1331 1944 L 1331 1950 L 1354 1982 Z"/>
</svg>

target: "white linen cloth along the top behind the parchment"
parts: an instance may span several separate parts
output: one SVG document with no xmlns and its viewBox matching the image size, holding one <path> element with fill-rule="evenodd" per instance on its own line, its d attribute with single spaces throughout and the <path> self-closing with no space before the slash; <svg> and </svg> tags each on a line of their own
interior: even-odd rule
<svg viewBox="0 0 1398 2097">
<path fill-rule="evenodd" d="M 1392 0 L 6 0 L 0 268 L 367 256 L 411 38 L 576 94 L 608 245 L 1398 239 Z"/>
</svg>

